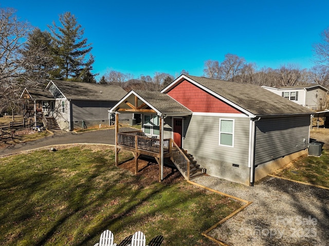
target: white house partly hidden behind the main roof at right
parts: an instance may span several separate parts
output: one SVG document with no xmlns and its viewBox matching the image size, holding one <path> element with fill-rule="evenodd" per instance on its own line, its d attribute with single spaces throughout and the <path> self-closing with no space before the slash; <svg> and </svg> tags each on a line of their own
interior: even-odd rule
<svg viewBox="0 0 329 246">
<path fill-rule="evenodd" d="M 320 85 L 262 87 L 313 111 L 322 111 L 327 107 L 329 90 Z"/>
</svg>

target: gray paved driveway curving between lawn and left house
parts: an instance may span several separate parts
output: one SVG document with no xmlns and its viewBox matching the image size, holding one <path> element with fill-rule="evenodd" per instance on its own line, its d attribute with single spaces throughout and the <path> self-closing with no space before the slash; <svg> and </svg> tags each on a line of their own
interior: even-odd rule
<svg viewBox="0 0 329 246">
<path fill-rule="evenodd" d="M 136 129 L 125 127 L 120 128 L 119 132 L 133 131 Z M 65 144 L 107 144 L 115 145 L 115 130 L 99 130 L 90 132 L 65 132 L 54 131 L 54 134 L 42 139 L 30 142 L 22 142 L 21 144 L 0 148 L 0 156 L 9 155 L 21 151 L 27 151 L 37 148 L 42 148 L 51 145 Z"/>
</svg>

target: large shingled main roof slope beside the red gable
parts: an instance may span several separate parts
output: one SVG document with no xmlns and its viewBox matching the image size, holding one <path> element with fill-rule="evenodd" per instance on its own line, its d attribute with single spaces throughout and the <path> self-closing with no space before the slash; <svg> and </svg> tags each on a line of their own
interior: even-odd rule
<svg viewBox="0 0 329 246">
<path fill-rule="evenodd" d="M 260 86 L 186 75 L 253 115 L 312 114 L 303 106 Z"/>
</svg>

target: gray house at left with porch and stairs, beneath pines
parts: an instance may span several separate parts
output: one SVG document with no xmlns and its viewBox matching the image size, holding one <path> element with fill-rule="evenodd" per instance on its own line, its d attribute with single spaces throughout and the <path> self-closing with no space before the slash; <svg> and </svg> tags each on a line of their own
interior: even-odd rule
<svg viewBox="0 0 329 246">
<path fill-rule="evenodd" d="M 21 98 L 27 99 L 24 107 L 32 109 L 35 117 L 42 113 L 55 118 L 60 129 L 72 131 L 109 125 L 108 109 L 125 94 L 119 86 L 50 80 L 45 89 L 25 88 Z M 31 100 L 33 105 L 29 103 Z M 132 115 L 125 115 L 121 120 L 130 118 Z"/>
</svg>

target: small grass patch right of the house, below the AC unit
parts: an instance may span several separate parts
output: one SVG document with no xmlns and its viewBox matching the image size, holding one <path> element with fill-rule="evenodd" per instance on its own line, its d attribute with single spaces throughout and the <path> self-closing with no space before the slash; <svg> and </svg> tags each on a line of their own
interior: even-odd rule
<svg viewBox="0 0 329 246">
<path fill-rule="evenodd" d="M 276 175 L 329 188 L 329 150 L 320 157 L 301 156 Z"/>
</svg>

